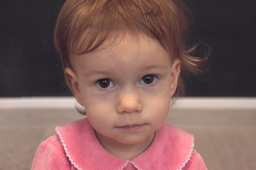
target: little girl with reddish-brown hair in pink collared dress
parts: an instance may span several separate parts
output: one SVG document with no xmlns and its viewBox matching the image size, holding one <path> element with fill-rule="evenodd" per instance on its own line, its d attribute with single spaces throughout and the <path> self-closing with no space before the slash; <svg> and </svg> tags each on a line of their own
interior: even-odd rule
<svg viewBox="0 0 256 170">
<path fill-rule="evenodd" d="M 38 147 L 32 169 L 206 169 L 193 135 L 164 124 L 181 76 L 201 62 L 176 0 L 67 0 L 55 27 L 65 78 L 87 118 Z M 181 74 L 180 74 L 181 73 Z"/>
</svg>

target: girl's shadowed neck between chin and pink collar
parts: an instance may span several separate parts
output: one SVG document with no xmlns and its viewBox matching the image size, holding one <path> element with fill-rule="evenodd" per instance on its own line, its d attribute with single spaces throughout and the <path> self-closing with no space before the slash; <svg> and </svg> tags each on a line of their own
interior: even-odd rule
<svg viewBox="0 0 256 170">
<path fill-rule="evenodd" d="M 154 134 L 150 135 L 146 140 L 136 143 L 136 144 L 123 144 L 112 140 L 110 138 L 104 137 L 96 132 L 97 139 L 104 149 L 110 154 L 119 157 L 120 159 L 132 160 L 139 154 L 142 154 L 146 149 L 149 148 L 154 140 Z"/>
</svg>

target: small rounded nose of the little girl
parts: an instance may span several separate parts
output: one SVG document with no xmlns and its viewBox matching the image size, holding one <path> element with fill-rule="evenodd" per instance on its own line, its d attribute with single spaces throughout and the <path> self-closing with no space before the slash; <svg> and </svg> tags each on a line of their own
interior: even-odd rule
<svg viewBox="0 0 256 170">
<path fill-rule="evenodd" d="M 142 102 L 136 91 L 126 91 L 119 94 L 117 113 L 140 113 L 142 112 Z"/>
</svg>

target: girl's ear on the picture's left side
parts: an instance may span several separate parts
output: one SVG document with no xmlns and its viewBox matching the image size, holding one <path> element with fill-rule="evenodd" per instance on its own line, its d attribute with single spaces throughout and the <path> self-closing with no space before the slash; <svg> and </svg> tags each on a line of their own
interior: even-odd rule
<svg viewBox="0 0 256 170">
<path fill-rule="evenodd" d="M 65 74 L 67 74 L 67 77 L 70 80 L 75 99 L 78 101 L 78 103 L 80 103 L 80 105 L 83 106 L 77 74 L 75 74 L 74 70 L 69 67 L 65 68 Z"/>
</svg>

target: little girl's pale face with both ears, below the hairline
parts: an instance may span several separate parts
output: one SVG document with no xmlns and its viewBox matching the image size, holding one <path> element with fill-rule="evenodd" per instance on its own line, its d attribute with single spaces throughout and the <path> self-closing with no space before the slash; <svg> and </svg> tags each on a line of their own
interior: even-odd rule
<svg viewBox="0 0 256 170">
<path fill-rule="evenodd" d="M 116 42 L 75 56 L 65 71 L 103 146 L 150 144 L 169 113 L 180 63 L 146 35 Z"/>
</svg>

